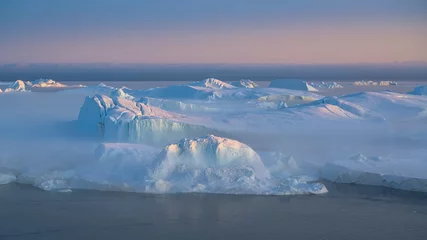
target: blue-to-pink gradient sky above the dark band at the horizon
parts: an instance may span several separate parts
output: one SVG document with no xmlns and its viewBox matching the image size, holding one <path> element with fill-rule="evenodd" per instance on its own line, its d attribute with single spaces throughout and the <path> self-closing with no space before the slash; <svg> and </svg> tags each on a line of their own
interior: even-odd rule
<svg viewBox="0 0 427 240">
<path fill-rule="evenodd" d="M 0 63 L 427 61 L 426 0 L 1 0 Z"/>
</svg>

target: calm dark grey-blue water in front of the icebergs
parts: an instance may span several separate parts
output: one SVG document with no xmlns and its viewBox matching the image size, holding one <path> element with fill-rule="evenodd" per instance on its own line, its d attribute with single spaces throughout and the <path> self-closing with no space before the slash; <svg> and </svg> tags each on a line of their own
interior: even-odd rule
<svg viewBox="0 0 427 240">
<path fill-rule="evenodd" d="M 0 186 L 0 239 L 427 239 L 427 195 L 327 184 L 323 196 L 43 192 Z"/>
</svg>

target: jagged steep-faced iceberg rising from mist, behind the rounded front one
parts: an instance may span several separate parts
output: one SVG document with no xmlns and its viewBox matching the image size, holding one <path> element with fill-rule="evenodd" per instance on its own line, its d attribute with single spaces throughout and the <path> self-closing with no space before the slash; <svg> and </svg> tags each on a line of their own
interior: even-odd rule
<svg viewBox="0 0 427 240">
<path fill-rule="evenodd" d="M 86 97 L 78 117 L 85 132 L 107 140 L 162 143 L 211 131 L 185 122 L 184 115 L 123 98 L 120 91 L 112 95 L 117 96 Z"/>
</svg>

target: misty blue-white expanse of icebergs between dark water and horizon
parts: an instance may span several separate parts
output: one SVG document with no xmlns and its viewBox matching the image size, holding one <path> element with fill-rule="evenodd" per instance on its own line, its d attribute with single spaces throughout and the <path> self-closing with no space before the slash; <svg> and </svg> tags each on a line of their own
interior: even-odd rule
<svg viewBox="0 0 427 240">
<path fill-rule="evenodd" d="M 218 81 L 0 94 L 0 184 L 283 195 L 326 193 L 324 178 L 426 191 L 427 96 Z M 348 158 L 359 152 L 374 157 Z"/>
</svg>

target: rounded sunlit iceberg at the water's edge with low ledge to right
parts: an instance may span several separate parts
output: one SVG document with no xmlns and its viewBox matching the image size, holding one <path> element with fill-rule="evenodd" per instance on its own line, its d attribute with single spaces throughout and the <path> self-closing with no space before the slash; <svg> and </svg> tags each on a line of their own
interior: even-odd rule
<svg viewBox="0 0 427 240">
<path fill-rule="evenodd" d="M 208 135 L 170 144 L 153 163 L 154 192 L 325 193 L 319 183 L 272 179 L 260 156 L 235 140 Z"/>
</svg>

